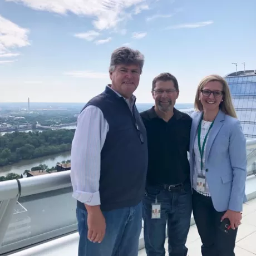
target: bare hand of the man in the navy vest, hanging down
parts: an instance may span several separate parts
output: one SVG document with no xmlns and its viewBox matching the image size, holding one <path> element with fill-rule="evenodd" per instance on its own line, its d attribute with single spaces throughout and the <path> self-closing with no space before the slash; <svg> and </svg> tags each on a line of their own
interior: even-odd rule
<svg viewBox="0 0 256 256">
<path fill-rule="evenodd" d="M 101 243 L 106 232 L 106 221 L 100 209 L 100 205 L 86 205 L 88 234 L 87 238 L 93 243 Z"/>
</svg>

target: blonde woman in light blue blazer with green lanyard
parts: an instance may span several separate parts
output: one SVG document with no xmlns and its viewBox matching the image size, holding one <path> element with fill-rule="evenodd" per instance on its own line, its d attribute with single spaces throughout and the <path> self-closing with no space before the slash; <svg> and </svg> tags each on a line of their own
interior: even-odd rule
<svg viewBox="0 0 256 256">
<path fill-rule="evenodd" d="M 247 178 L 246 140 L 227 82 L 203 78 L 190 133 L 193 215 L 203 256 L 234 256 Z"/>
</svg>

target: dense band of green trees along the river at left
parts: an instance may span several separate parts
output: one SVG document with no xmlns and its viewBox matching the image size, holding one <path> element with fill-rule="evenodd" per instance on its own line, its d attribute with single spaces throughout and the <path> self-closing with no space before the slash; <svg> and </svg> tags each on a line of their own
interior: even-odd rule
<svg viewBox="0 0 256 256">
<path fill-rule="evenodd" d="M 71 150 L 75 129 L 12 132 L 0 136 L 0 166 Z"/>
</svg>

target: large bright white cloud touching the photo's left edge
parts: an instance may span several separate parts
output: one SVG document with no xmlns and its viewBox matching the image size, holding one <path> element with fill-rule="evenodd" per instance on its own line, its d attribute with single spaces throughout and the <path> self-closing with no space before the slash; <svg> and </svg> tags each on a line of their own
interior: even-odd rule
<svg viewBox="0 0 256 256">
<path fill-rule="evenodd" d="M 0 15 L 0 50 L 7 51 L 15 47 L 30 45 L 28 42 L 29 30 L 19 27 Z"/>
</svg>

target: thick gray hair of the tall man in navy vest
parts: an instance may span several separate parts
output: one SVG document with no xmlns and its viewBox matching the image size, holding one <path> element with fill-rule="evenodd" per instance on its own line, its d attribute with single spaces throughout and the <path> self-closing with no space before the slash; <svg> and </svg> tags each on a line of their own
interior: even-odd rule
<svg viewBox="0 0 256 256">
<path fill-rule="evenodd" d="M 144 65 L 144 55 L 137 50 L 133 50 L 129 47 L 120 47 L 112 52 L 109 71 L 113 72 L 116 65 L 139 65 L 140 73 Z"/>
</svg>

